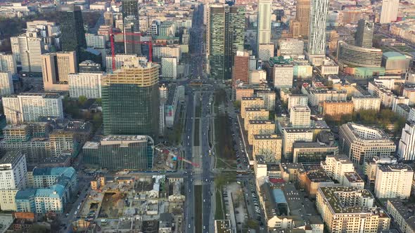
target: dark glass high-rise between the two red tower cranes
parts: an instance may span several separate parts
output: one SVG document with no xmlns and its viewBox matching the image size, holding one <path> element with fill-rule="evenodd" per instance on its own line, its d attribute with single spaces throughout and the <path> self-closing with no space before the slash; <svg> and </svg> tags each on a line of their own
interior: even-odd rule
<svg viewBox="0 0 415 233">
<path fill-rule="evenodd" d="M 139 20 L 134 15 L 124 18 L 124 49 L 126 54 L 141 54 Z"/>
</svg>

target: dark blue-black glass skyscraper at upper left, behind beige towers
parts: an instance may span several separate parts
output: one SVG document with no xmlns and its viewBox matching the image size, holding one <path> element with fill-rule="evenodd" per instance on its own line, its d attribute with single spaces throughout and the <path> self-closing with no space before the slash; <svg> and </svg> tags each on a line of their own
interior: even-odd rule
<svg viewBox="0 0 415 233">
<path fill-rule="evenodd" d="M 60 46 L 63 51 L 80 51 L 87 48 L 84 20 L 79 6 L 60 6 Z"/>
</svg>

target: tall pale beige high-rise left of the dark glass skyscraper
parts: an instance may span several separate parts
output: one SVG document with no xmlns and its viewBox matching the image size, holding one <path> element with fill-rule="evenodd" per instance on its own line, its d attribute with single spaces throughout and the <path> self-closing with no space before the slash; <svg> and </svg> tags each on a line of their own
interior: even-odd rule
<svg viewBox="0 0 415 233">
<path fill-rule="evenodd" d="M 20 60 L 23 72 L 41 72 L 41 54 L 44 53 L 44 41 L 38 29 L 27 29 L 18 36 Z"/>
</svg>

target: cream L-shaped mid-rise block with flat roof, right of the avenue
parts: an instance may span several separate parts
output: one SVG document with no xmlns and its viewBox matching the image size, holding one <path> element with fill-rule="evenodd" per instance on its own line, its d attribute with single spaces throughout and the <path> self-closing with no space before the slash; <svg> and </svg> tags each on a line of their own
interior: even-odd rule
<svg viewBox="0 0 415 233">
<path fill-rule="evenodd" d="M 293 154 L 294 142 L 312 142 L 313 133 L 309 128 L 282 128 L 283 155 L 288 158 Z"/>
</svg>

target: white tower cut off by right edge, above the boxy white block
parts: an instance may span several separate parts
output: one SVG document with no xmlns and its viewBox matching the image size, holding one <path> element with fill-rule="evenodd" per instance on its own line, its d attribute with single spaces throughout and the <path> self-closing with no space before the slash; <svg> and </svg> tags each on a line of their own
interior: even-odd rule
<svg viewBox="0 0 415 233">
<path fill-rule="evenodd" d="M 409 120 L 402 128 L 402 135 L 397 148 L 397 156 L 403 160 L 415 160 L 415 121 Z"/>
</svg>

